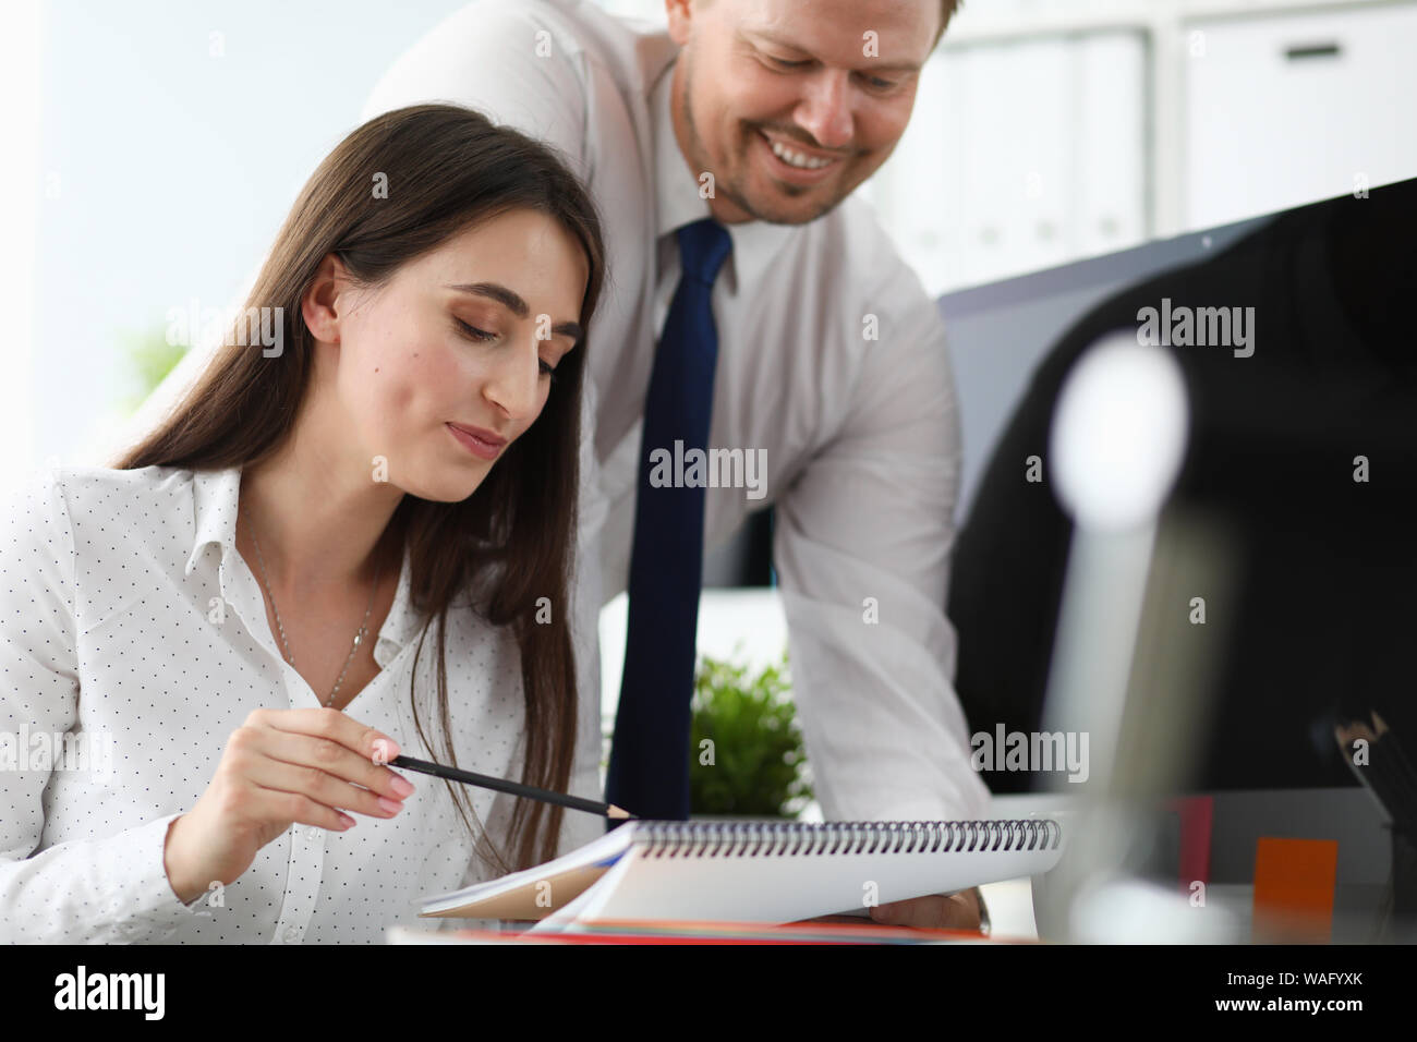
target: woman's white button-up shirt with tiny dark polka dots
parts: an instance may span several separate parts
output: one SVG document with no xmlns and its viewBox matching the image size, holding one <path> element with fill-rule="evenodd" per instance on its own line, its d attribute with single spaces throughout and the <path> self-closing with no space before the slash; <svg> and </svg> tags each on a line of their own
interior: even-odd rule
<svg viewBox="0 0 1417 1042">
<path fill-rule="evenodd" d="M 320 705 L 281 655 L 237 551 L 239 478 L 239 468 L 55 466 L 6 489 L 0 943 L 378 943 L 394 924 L 469 926 L 418 919 L 417 903 L 497 875 L 475 858 L 445 783 L 400 771 L 415 791 L 395 817 L 353 814 L 344 832 L 298 824 L 220 903 L 183 904 L 173 892 L 167 827 L 205 791 L 231 733 L 254 709 Z M 421 621 L 408 593 L 405 550 L 373 649 L 383 672 L 344 712 L 435 760 L 410 705 Z M 429 628 L 418 668 L 429 734 L 435 654 Z M 516 641 L 466 604 L 448 611 L 448 699 L 458 763 L 520 778 Z M 582 727 L 580 749 L 595 756 L 577 766 L 582 777 L 595 777 L 598 727 L 598 717 Z M 65 733 L 68 753 L 52 737 Z M 468 795 L 506 851 L 513 797 Z M 563 852 L 604 832 L 588 814 L 565 821 Z"/>
</svg>

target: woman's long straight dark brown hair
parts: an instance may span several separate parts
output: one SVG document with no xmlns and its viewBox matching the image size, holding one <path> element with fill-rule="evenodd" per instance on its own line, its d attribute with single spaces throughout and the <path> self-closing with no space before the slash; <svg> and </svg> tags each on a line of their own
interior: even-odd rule
<svg viewBox="0 0 1417 1042">
<path fill-rule="evenodd" d="M 387 191 L 376 191 L 383 179 Z M 589 267 L 581 326 L 589 330 L 604 278 L 604 242 L 595 206 L 546 145 L 456 105 L 412 105 L 377 116 L 320 163 L 276 235 L 247 299 L 281 308 L 282 350 L 237 346 L 234 326 L 193 390 L 170 417 L 113 464 L 116 469 L 247 466 L 273 454 L 293 432 L 310 384 L 315 343 L 300 298 L 320 261 L 334 254 L 361 285 L 383 285 L 400 265 L 436 248 L 470 224 L 513 208 L 560 221 L 581 244 Z M 241 319 L 238 318 L 239 323 Z M 456 766 L 448 706 L 446 610 L 459 594 L 492 625 L 509 625 L 521 659 L 526 707 L 521 780 L 567 791 L 575 753 L 575 658 L 567 624 L 575 546 L 581 384 L 585 344 L 568 352 L 536 422 L 507 447 L 478 491 L 456 503 L 405 495 L 388 532 L 407 539 L 411 601 L 424 620 L 414 654 L 414 723 L 429 750 L 418 709 L 417 665 L 428 624 L 436 618 L 441 763 Z M 402 554 L 394 546 L 390 553 Z M 397 566 L 395 566 L 397 567 Z M 550 598 L 551 621 L 537 622 Z M 503 852 L 473 828 L 476 811 L 463 787 L 445 781 L 468 831 L 502 872 Z M 555 856 L 561 807 L 517 800 L 509 827 L 514 868 Z M 540 842 L 538 842 L 540 836 Z M 482 839 L 487 842 L 483 844 Z"/>
</svg>

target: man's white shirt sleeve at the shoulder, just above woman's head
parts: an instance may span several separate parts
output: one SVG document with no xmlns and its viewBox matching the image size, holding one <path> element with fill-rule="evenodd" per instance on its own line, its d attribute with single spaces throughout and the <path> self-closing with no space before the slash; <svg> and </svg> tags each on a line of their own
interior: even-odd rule
<svg viewBox="0 0 1417 1042">
<path fill-rule="evenodd" d="M 585 82 L 584 52 L 553 13 L 482 0 L 401 54 L 360 119 L 422 102 L 463 105 L 555 147 L 585 179 Z"/>
</svg>

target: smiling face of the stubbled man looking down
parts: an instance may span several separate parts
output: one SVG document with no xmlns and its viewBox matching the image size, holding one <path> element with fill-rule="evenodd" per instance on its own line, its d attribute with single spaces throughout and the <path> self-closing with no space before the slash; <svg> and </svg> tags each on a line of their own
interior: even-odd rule
<svg viewBox="0 0 1417 1042">
<path fill-rule="evenodd" d="M 714 217 L 802 224 L 894 150 L 939 0 L 667 0 L 674 133 Z"/>
</svg>

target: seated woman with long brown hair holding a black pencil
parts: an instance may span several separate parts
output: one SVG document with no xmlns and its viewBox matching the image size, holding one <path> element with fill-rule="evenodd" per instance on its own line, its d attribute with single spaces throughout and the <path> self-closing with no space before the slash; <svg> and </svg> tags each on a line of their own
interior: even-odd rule
<svg viewBox="0 0 1417 1042">
<path fill-rule="evenodd" d="M 273 347 L 238 322 L 113 469 L 21 491 L 0 940 L 380 941 L 557 853 L 560 807 L 383 764 L 558 791 L 595 766 L 567 597 L 602 264 L 547 147 L 452 105 L 381 115 L 256 279 L 242 319 Z M 45 736 L 94 754 L 38 763 Z"/>
</svg>

